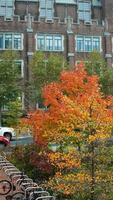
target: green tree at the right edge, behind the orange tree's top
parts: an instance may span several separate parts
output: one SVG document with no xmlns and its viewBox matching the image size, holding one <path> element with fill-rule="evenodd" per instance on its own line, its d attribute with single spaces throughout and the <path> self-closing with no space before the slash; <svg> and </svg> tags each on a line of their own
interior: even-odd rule
<svg viewBox="0 0 113 200">
<path fill-rule="evenodd" d="M 98 52 L 89 55 L 85 67 L 89 75 L 99 76 L 102 92 L 105 95 L 113 95 L 113 69 L 107 66 L 105 59 Z"/>
</svg>

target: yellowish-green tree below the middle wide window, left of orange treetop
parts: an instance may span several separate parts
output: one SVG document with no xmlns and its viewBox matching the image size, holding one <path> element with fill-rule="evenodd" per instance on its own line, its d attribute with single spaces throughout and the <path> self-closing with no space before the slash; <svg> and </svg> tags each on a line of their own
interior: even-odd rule
<svg viewBox="0 0 113 200">
<path fill-rule="evenodd" d="M 35 52 L 31 61 L 31 101 L 42 104 L 41 91 L 46 84 L 59 79 L 60 72 L 68 68 L 63 56 Z"/>
</svg>

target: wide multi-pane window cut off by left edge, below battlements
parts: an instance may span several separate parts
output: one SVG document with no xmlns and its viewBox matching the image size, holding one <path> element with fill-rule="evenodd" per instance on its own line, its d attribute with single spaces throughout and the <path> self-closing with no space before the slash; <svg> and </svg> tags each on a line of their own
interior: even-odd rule
<svg viewBox="0 0 113 200">
<path fill-rule="evenodd" d="M 22 50 L 23 41 L 20 33 L 0 33 L 0 49 Z"/>
</svg>

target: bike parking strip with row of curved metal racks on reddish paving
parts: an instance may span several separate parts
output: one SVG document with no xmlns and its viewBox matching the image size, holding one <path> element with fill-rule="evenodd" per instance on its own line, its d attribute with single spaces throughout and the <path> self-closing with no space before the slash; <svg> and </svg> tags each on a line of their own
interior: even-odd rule
<svg viewBox="0 0 113 200">
<path fill-rule="evenodd" d="M 5 156 L 0 156 L 0 170 L 3 170 L 8 176 L 8 180 L 0 181 L 0 195 L 7 195 L 6 200 L 55 199 L 27 175 L 19 171 Z"/>
</svg>

